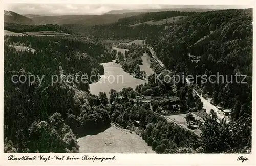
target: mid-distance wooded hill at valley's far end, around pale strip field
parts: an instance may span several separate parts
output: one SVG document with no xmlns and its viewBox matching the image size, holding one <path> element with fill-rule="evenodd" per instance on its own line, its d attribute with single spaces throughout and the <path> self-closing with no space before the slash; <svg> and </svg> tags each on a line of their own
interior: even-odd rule
<svg viewBox="0 0 256 166">
<path fill-rule="evenodd" d="M 143 13 L 132 17 L 120 18 L 118 22 L 109 24 L 99 24 L 94 26 L 86 27 L 82 24 L 64 24 L 70 31 L 77 33 L 79 35 L 101 38 L 101 39 L 146 39 L 149 36 L 157 37 L 165 31 L 164 25 L 147 25 L 140 24 L 135 27 L 130 27 L 130 25 L 136 23 L 143 23 L 146 21 L 162 20 L 165 18 L 175 17 L 175 16 L 187 16 L 192 15 L 194 12 L 179 12 L 179 11 L 165 11 L 165 12 L 152 12 Z M 172 23 L 180 24 L 183 19 Z M 172 25 L 171 24 L 171 25 Z"/>
</svg>

